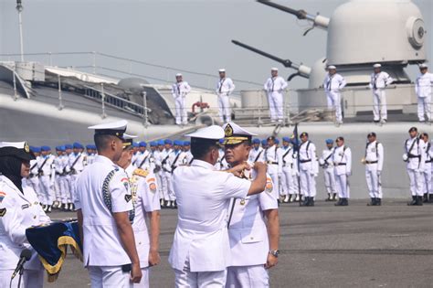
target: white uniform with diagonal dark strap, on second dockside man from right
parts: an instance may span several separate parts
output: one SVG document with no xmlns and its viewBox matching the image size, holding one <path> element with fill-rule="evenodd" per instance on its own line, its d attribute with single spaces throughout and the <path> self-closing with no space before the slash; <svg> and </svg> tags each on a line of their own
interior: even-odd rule
<svg viewBox="0 0 433 288">
<path fill-rule="evenodd" d="M 422 171 L 426 165 L 424 141 L 419 138 L 410 138 L 405 142 L 405 153 L 407 155 L 407 175 L 410 181 L 410 192 L 412 196 L 423 196 Z"/>
</svg>

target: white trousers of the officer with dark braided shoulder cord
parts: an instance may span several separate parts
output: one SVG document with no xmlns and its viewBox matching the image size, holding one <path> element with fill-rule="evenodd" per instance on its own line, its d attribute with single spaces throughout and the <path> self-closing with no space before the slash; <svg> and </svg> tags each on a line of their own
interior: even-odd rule
<svg viewBox="0 0 433 288">
<path fill-rule="evenodd" d="M 121 266 L 89 266 L 91 288 L 132 287 L 131 273 L 122 272 Z"/>
</svg>

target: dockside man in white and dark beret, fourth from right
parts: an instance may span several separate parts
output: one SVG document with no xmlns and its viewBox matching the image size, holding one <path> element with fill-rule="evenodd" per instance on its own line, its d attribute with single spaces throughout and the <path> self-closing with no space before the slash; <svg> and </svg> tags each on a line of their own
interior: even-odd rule
<svg viewBox="0 0 433 288">
<path fill-rule="evenodd" d="M 352 175 L 352 151 L 344 144 L 343 137 L 337 137 L 335 143 L 337 146 L 333 151 L 333 166 L 338 192 L 338 202 L 335 203 L 335 206 L 348 206 L 350 197 L 349 176 Z"/>
</svg>

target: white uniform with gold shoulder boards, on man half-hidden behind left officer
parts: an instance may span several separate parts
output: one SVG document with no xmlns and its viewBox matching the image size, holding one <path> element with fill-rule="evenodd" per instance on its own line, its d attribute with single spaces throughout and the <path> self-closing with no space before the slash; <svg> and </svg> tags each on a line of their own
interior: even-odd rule
<svg viewBox="0 0 433 288">
<path fill-rule="evenodd" d="M 132 201 L 135 209 L 132 229 L 140 258 L 140 268 L 143 272 L 142 281 L 134 283 L 133 287 L 147 288 L 149 287 L 149 251 L 151 246 L 146 225 L 146 213 L 161 209 L 156 177 L 152 172 L 135 168 L 134 165 L 129 165 L 125 172 L 131 183 Z"/>
</svg>

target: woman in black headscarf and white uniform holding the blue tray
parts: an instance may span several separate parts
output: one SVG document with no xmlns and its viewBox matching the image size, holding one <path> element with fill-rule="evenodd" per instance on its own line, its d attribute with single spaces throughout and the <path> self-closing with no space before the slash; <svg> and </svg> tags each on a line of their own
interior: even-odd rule
<svg viewBox="0 0 433 288">
<path fill-rule="evenodd" d="M 0 143 L 0 287 L 18 287 L 19 276 L 12 282 L 11 276 L 24 249 L 30 250 L 32 257 L 24 265 L 20 287 L 39 288 L 44 283 L 42 264 L 26 239 L 27 228 L 50 221 L 33 188 L 22 181 L 29 175 L 33 159 L 24 142 Z"/>
</svg>

